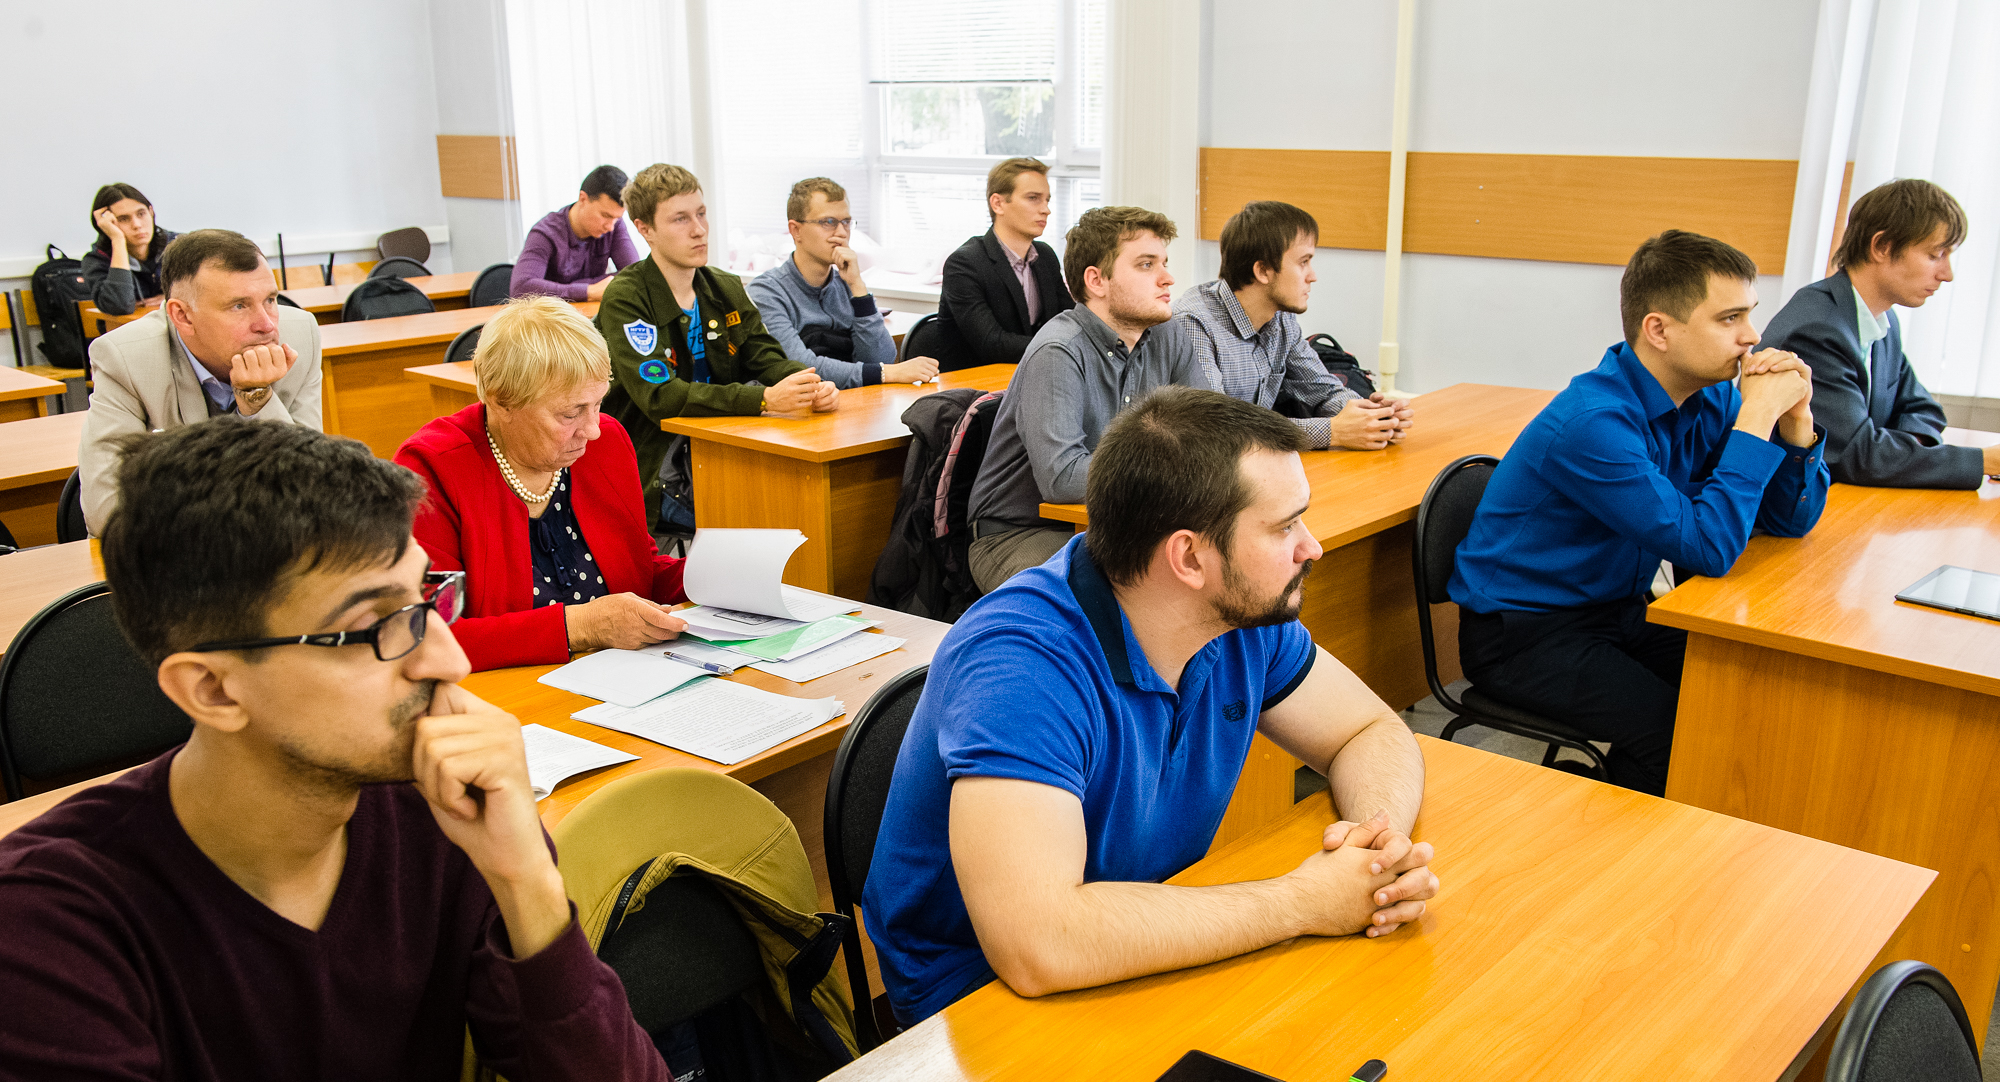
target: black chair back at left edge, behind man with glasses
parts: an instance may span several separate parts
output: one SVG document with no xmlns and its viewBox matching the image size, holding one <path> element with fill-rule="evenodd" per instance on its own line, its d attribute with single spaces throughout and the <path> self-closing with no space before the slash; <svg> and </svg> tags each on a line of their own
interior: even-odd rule
<svg viewBox="0 0 2000 1082">
<path fill-rule="evenodd" d="M 192 728 L 118 630 L 104 582 L 36 612 L 0 658 L 8 800 L 20 800 L 24 776 L 102 774 L 180 744 Z"/>
</svg>

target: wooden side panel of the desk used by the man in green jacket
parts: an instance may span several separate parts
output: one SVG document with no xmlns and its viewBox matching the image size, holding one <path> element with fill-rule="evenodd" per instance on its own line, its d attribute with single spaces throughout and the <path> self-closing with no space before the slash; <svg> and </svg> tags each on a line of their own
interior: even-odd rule
<svg viewBox="0 0 2000 1082">
<path fill-rule="evenodd" d="M 694 520 L 702 526 L 798 530 L 784 580 L 806 590 L 834 592 L 834 500 L 826 462 L 800 462 L 714 440 L 694 440 Z M 858 598 L 858 594 L 856 594 Z"/>
</svg>

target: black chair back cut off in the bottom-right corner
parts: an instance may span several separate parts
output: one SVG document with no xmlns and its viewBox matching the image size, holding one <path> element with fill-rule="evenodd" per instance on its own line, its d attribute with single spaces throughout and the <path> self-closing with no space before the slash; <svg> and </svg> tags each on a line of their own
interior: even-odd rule
<svg viewBox="0 0 2000 1082">
<path fill-rule="evenodd" d="M 1966 1004 L 1938 970 L 1890 962 L 1854 996 L 1826 1056 L 1826 1082 L 1980 1082 Z"/>
</svg>

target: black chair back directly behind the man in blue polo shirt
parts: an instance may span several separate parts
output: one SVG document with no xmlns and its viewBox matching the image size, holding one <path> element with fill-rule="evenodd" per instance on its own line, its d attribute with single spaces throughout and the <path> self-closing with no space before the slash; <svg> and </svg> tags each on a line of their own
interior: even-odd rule
<svg viewBox="0 0 2000 1082">
<path fill-rule="evenodd" d="M 854 904 L 860 902 L 862 884 L 868 882 L 876 832 L 882 830 L 882 808 L 888 806 L 888 782 L 896 772 L 896 754 L 902 750 L 902 734 L 910 728 L 916 700 L 924 696 L 926 676 L 930 676 L 928 664 L 904 670 L 868 696 L 848 722 L 840 750 L 834 752 L 832 776 L 826 780 L 826 878 L 834 888 L 834 912 L 848 918 L 842 952 L 848 956 L 854 1038 L 862 1052 L 886 1038 L 876 1028 Z"/>
</svg>

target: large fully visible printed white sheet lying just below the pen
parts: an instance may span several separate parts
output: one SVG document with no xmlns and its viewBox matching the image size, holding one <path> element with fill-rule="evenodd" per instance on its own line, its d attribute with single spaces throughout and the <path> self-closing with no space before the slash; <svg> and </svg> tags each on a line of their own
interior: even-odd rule
<svg viewBox="0 0 2000 1082">
<path fill-rule="evenodd" d="M 636 710 L 602 704 L 570 716 L 728 766 L 844 712 L 836 698 L 792 698 L 730 680 L 702 680 Z"/>
</svg>

